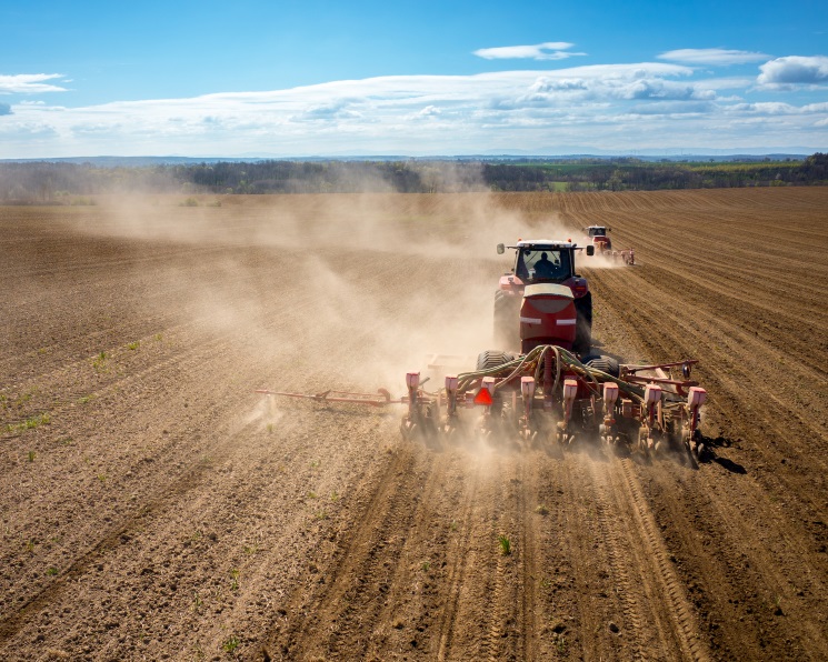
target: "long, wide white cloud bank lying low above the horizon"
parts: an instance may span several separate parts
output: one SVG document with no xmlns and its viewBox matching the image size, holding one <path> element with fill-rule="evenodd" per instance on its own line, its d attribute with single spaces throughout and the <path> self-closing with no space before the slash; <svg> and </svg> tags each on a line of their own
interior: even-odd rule
<svg viewBox="0 0 828 662">
<path fill-rule="evenodd" d="M 94 156 L 113 144 L 123 156 L 213 157 L 826 146 L 818 123 L 828 104 L 745 103 L 718 91 L 749 91 L 752 79 L 699 76 L 678 63 L 638 62 L 380 77 L 84 108 L 16 103 L 13 114 L 0 116 L 0 158 Z"/>
</svg>

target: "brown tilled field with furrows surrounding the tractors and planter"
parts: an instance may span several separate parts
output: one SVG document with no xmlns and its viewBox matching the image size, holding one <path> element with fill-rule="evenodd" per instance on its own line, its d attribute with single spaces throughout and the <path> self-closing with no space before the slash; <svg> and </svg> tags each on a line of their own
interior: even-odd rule
<svg viewBox="0 0 828 662">
<path fill-rule="evenodd" d="M 0 207 L 0 658 L 828 659 L 828 189 L 200 202 Z M 253 392 L 472 368 L 495 243 L 587 224 L 698 469 Z"/>
</svg>

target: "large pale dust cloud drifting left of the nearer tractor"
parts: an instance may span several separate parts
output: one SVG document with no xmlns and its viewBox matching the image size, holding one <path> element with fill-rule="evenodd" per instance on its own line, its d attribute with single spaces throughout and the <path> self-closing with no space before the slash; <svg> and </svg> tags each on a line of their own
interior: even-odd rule
<svg viewBox="0 0 828 662">
<path fill-rule="evenodd" d="M 479 192 L 183 200 L 100 200 L 77 230 L 169 252 L 156 268 L 180 283 L 184 321 L 256 352 L 260 387 L 302 392 L 399 395 L 429 354 L 473 369 L 492 349 L 493 292 L 511 268 L 496 244 L 572 234 L 553 210 L 527 218 Z"/>
</svg>

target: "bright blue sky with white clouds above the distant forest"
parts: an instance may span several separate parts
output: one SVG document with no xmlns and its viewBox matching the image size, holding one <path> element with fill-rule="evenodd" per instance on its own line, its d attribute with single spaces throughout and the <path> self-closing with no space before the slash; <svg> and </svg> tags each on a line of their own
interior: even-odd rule
<svg viewBox="0 0 828 662">
<path fill-rule="evenodd" d="M 0 3 L 0 158 L 828 151 L 828 2 Z"/>
</svg>

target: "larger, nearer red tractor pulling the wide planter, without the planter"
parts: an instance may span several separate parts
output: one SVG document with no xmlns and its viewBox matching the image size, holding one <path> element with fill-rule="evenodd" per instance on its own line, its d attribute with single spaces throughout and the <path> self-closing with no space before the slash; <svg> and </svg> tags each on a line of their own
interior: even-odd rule
<svg viewBox="0 0 828 662">
<path fill-rule="evenodd" d="M 555 344 L 585 355 L 592 338 L 592 294 L 587 279 L 575 270 L 570 241 L 520 240 L 498 244 L 498 254 L 515 250 L 512 270 L 495 292 L 495 344 L 527 353 Z M 588 245 L 587 254 L 595 248 Z"/>
</svg>

